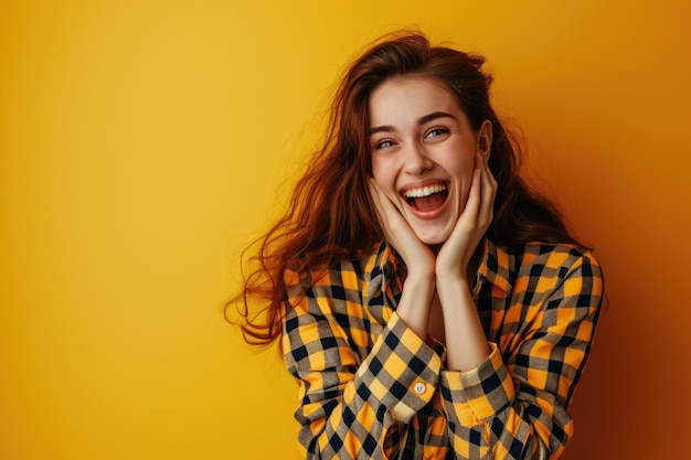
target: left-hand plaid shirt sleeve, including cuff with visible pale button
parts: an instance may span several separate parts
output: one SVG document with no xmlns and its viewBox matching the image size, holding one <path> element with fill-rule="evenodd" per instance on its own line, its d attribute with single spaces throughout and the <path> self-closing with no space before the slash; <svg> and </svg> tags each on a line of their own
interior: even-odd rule
<svg viewBox="0 0 691 460">
<path fill-rule="evenodd" d="M 285 360 L 299 385 L 299 443 L 307 459 L 387 458 L 398 449 L 387 429 L 432 399 L 442 360 L 395 312 L 362 360 L 334 319 L 333 303 L 343 300 L 329 291 L 312 287 L 287 306 L 284 321 Z"/>
</svg>

